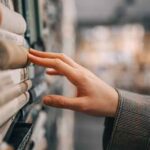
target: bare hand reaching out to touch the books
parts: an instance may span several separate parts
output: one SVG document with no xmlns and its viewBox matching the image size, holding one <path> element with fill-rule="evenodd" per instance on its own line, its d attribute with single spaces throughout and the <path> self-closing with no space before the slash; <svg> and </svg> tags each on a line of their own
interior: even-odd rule
<svg viewBox="0 0 150 150">
<path fill-rule="evenodd" d="M 115 116 L 118 93 L 89 70 L 64 54 L 30 50 L 28 57 L 37 65 L 51 68 L 47 74 L 66 76 L 77 88 L 76 97 L 48 95 L 43 98 L 45 104 L 96 116 Z"/>
</svg>

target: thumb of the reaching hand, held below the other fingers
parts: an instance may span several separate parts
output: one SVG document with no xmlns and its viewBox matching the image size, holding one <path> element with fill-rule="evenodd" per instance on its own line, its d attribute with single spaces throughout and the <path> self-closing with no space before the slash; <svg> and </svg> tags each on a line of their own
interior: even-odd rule
<svg viewBox="0 0 150 150">
<path fill-rule="evenodd" d="M 43 102 L 46 105 L 57 108 L 66 108 L 77 111 L 80 111 L 80 108 L 82 108 L 80 98 L 69 98 L 59 95 L 48 95 L 43 98 Z"/>
</svg>

